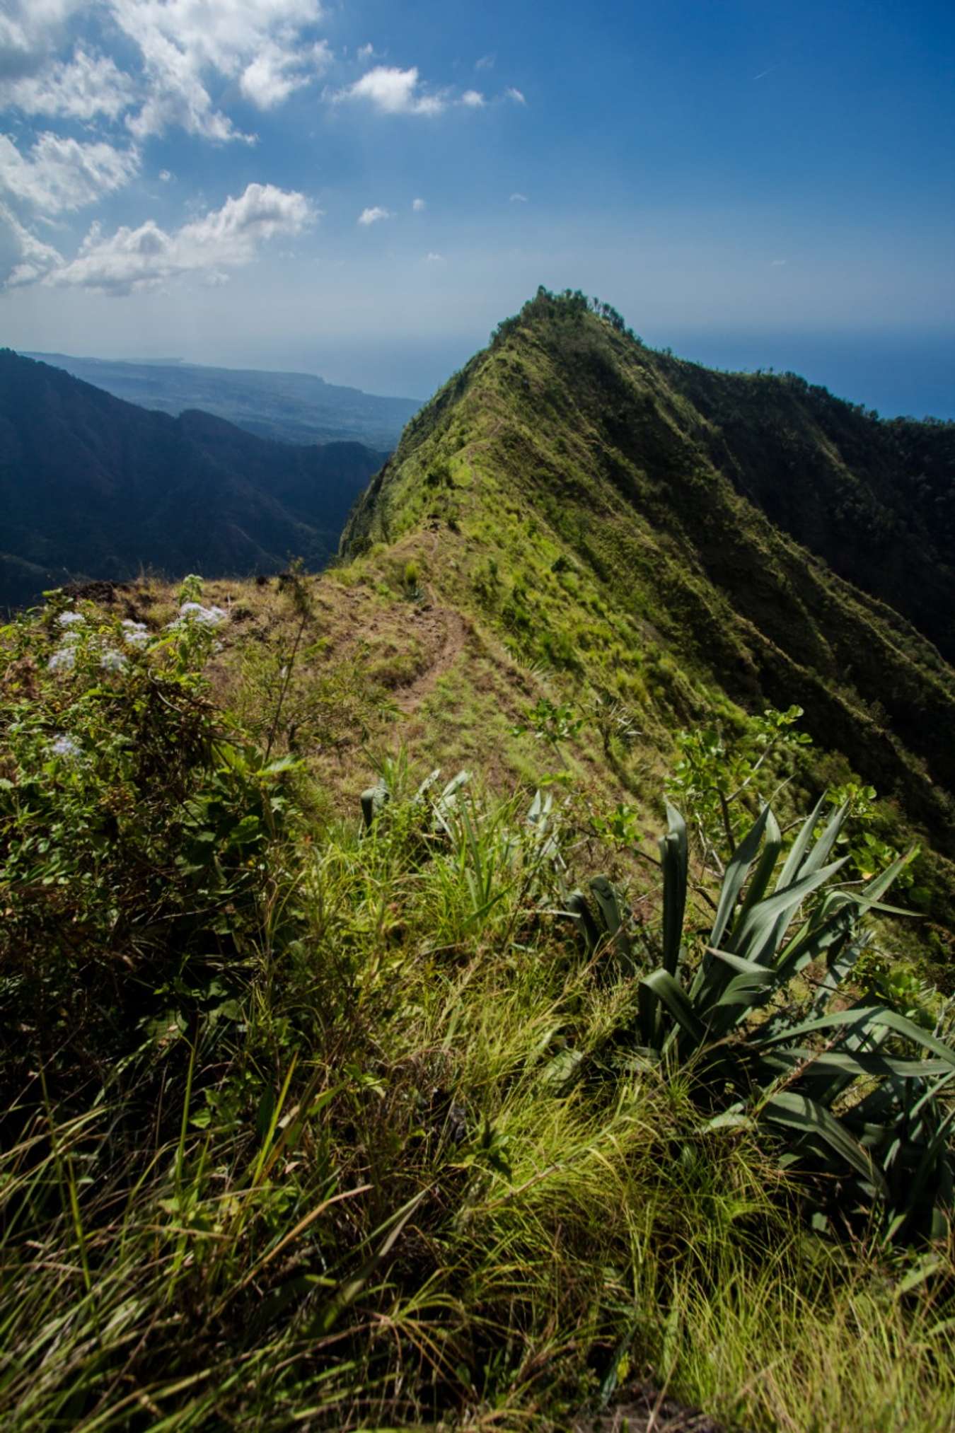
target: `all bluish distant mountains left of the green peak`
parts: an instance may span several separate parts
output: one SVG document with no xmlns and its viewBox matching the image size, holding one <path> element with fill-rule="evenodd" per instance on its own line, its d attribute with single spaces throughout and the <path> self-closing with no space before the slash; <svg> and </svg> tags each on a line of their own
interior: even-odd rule
<svg viewBox="0 0 955 1433">
<path fill-rule="evenodd" d="M 0 605 L 70 579 L 321 566 L 384 453 L 123 403 L 0 350 Z"/>
</svg>

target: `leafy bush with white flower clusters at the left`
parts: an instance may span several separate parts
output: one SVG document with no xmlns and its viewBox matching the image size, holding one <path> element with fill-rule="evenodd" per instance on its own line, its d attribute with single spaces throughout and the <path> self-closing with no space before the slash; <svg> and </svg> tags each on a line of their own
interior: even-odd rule
<svg viewBox="0 0 955 1433">
<path fill-rule="evenodd" d="M 225 620 L 195 593 L 159 632 L 54 596 L 0 631 L 4 1083 L 24 1035 L 47 1076 L 102 1078 L 141 1020 L 239 979 L 291 764 L 208 699 Z"/>
</svg>

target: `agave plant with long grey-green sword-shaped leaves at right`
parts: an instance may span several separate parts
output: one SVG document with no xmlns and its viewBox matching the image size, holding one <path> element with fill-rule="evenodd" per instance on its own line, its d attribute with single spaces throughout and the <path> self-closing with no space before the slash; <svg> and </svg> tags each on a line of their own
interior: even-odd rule
<svg viewBox="0 0 955 1433">
<path fill-rule="evenodd" d="M 697 962 L 684 944 L 687 828 L 667 807 L 662 964 L 640 980 L 640 1055 L 691 1063 L 711 1126 L 771 1129 L 784 1165 L 829 1176 L 843 1215 L 875 1205 L 886 1238 L 932 1237 L 952 1205 L 955 1108 L 945 1105 L 955 1050 L 846 989 L 866 944 L 863 920 L 893 911 L 882 896 L 912 854 L 862 887 L 832 884 L 846 814 L 840 807 L 823 824 L 820 801 L 783 856 L 764 807 L 727 866 Z M 612 920 L 599 916 L 611 934 Z M 589 910 L 588 919 L 597 929 Z M 797 997 L 800 974 L 814 997 Z"/>
</svg>

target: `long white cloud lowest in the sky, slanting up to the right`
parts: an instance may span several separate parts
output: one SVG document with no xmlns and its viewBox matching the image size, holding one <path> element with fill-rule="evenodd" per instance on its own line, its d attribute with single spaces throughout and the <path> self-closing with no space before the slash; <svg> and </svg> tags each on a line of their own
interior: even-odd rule
<svg viewBox="0 0 955 1433">
<path fill-rule="evenodd" d="M 14 271 L 7 284 L 42 278 L 47 285 L 113 295 L 155 288 L 188 274 L 221 284 L 228 278 L 225 269 L 251 264 L 270 239 L 300 234 L 315 218 L 303 193 L 251 183 L 238 199 L 227 199 L 221 209 L 174 232 L 161 229 L 153 219 L 136 229 L 123 225 L 112 235 L 103 235 L 100 225 L 93 224 L 75 259 L 63 262 L 54 251 L 47 251 L 54 258 L 44 269 L 33 262 L 34 274 L 16 278 Z M 26 255 L 24 264 L 30 262 Z"/>
</svg>

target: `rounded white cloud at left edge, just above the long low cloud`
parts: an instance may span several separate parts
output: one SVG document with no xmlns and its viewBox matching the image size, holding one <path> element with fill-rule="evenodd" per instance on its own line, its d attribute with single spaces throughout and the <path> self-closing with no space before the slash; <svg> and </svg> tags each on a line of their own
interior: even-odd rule
<svg viewBox="0 0 955 1433">
<path fill-rule="evenodd" d="M 29 158 L 0 135 L 0 189 L 43 214 L 80 209 L 123 188 L 139 171 L 136 149 L 39 135 Z"/>
</svg>

